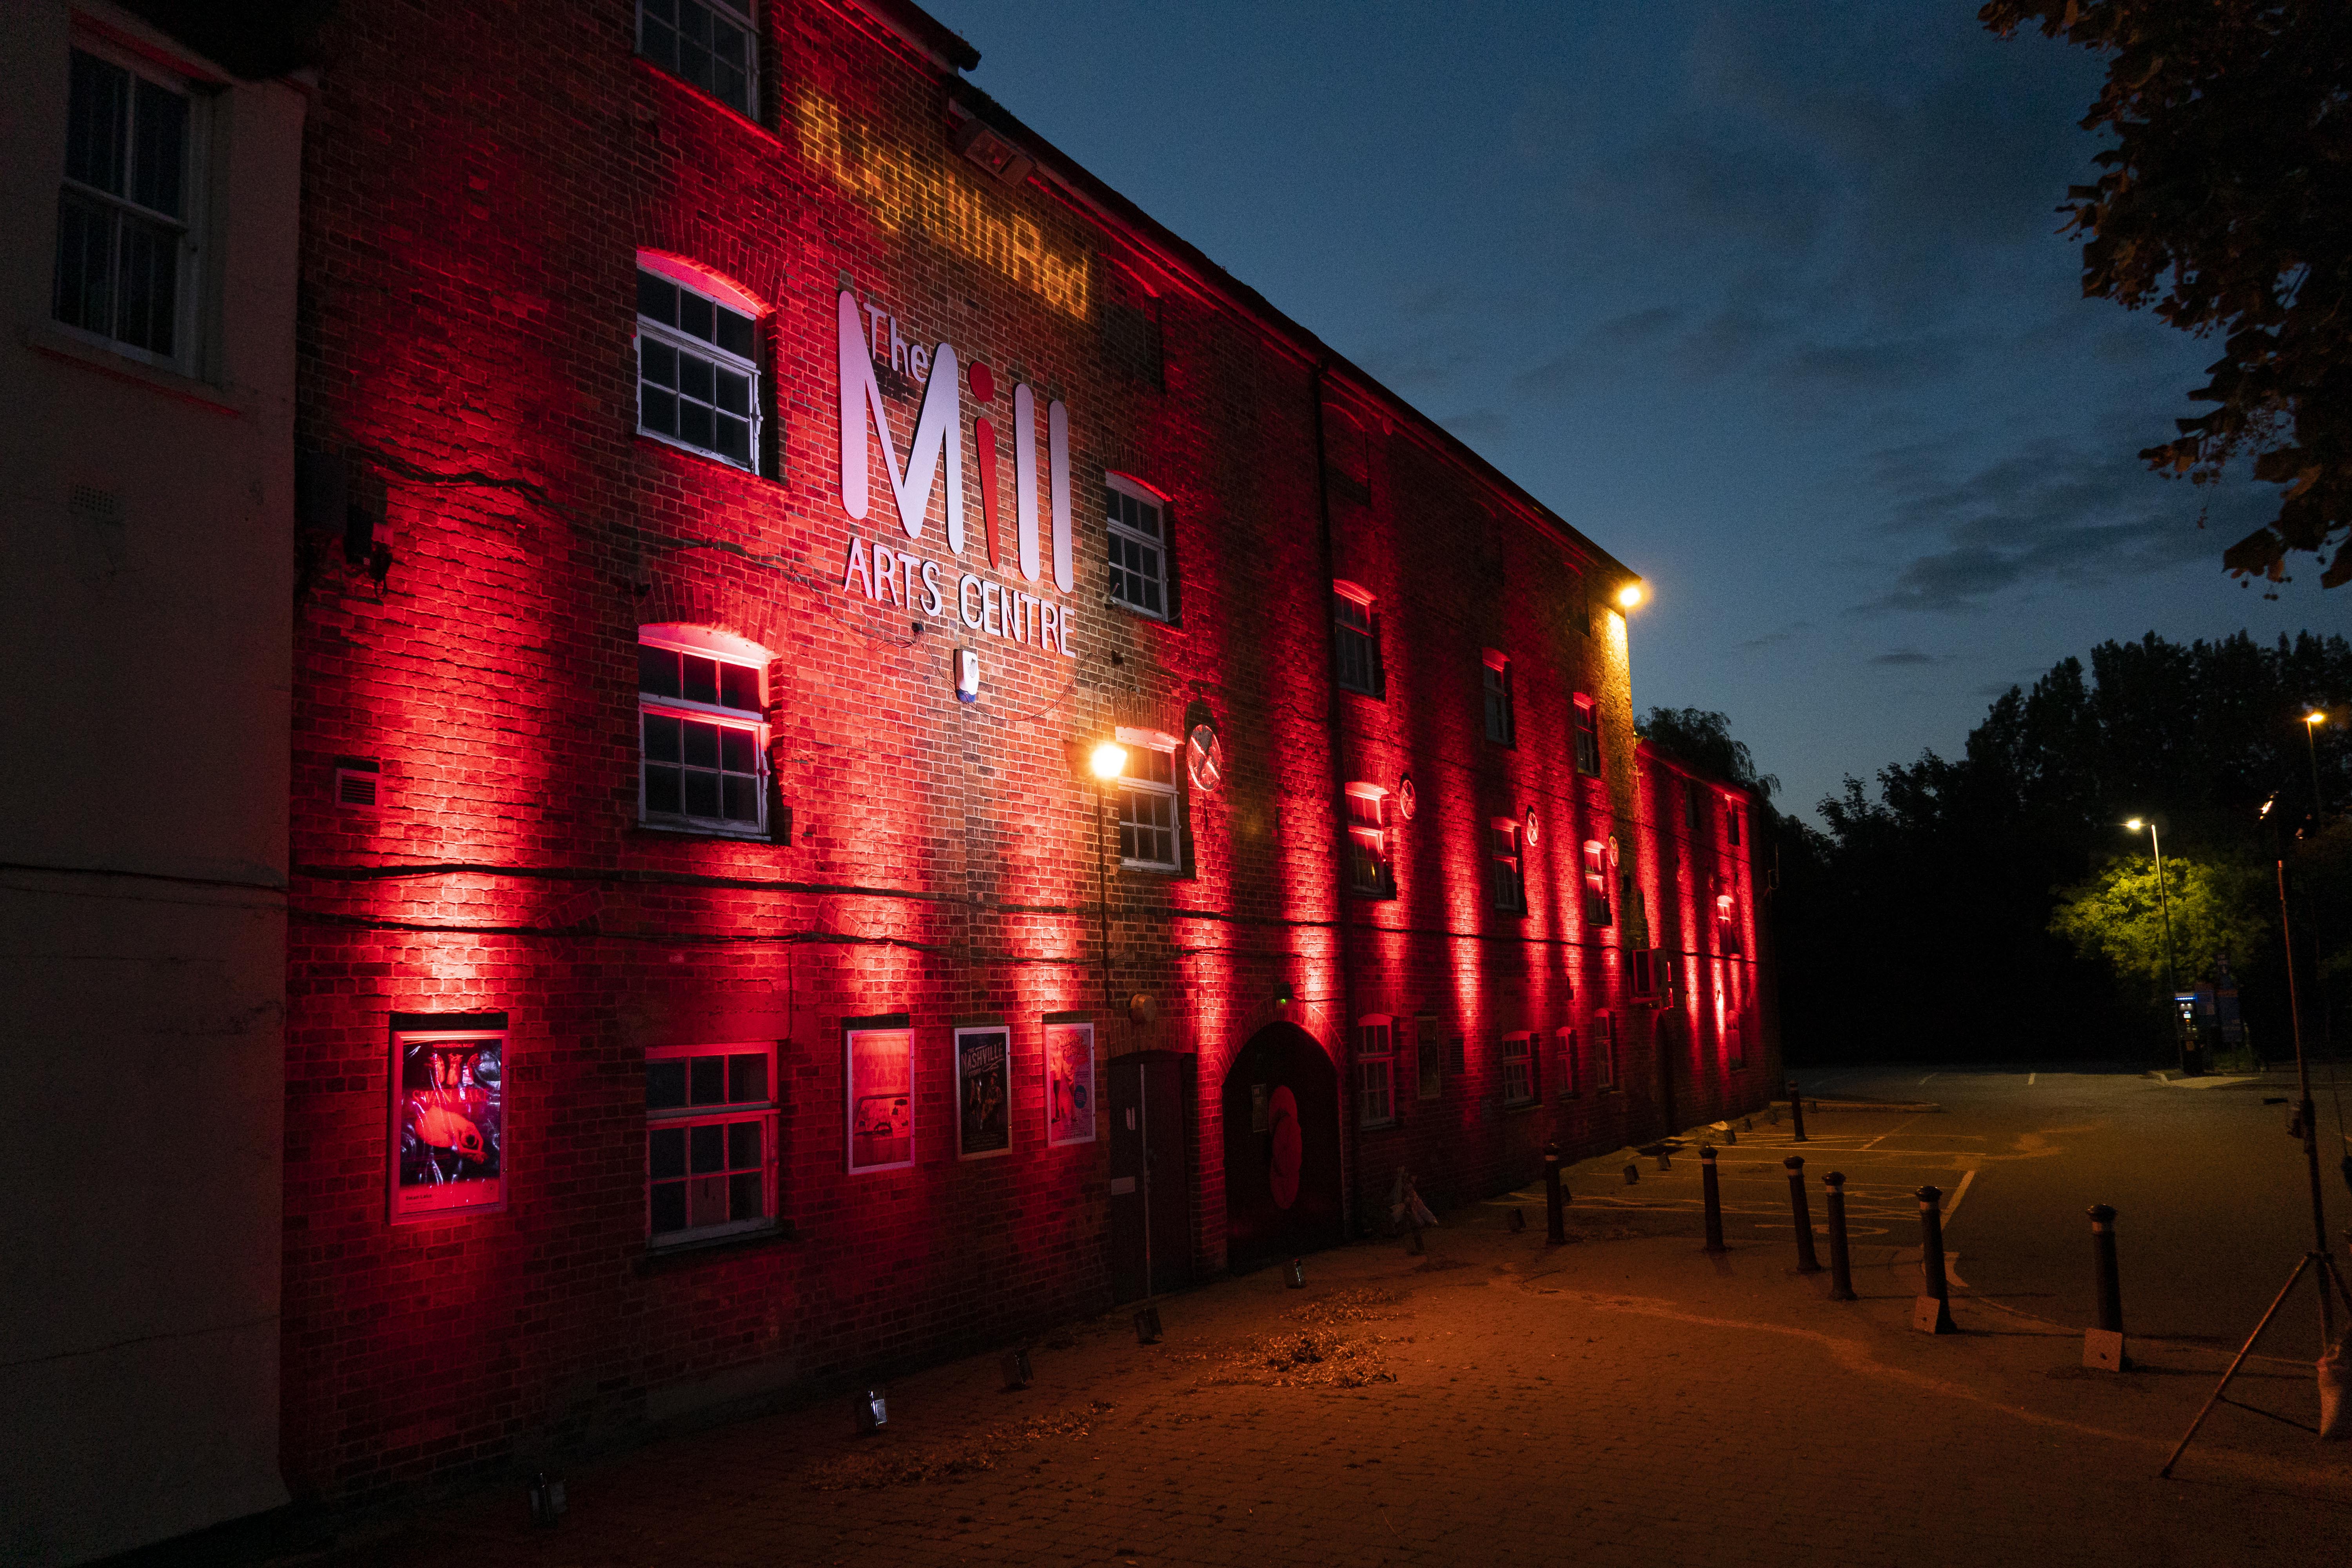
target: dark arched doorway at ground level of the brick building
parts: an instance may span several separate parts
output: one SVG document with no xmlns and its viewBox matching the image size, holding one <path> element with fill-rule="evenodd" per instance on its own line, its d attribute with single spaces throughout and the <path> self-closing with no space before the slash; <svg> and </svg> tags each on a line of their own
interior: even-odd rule
<svg viewBox="0 0 2352 1568">
<path fill-rule="evenodd" d="M 1345 1239 L 1338 1072 L 1315 1037 L 1270 1023 L 1225 1070 L 1225 1253 L 1244 1269 Z"/>
</svg>

